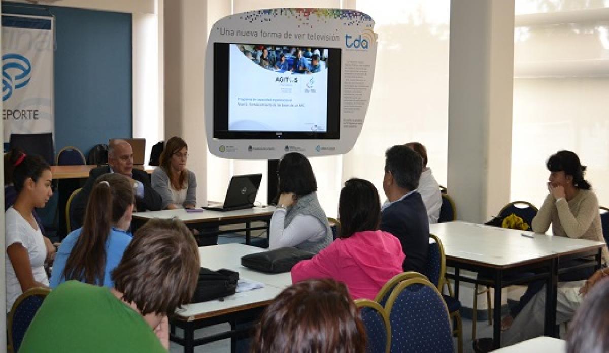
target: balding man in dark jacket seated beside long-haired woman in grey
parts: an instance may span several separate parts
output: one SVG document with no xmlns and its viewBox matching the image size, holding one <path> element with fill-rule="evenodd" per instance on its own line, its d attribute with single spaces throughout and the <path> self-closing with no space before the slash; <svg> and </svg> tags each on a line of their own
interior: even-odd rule
<svg viewBox="0 0 609 353">
<path fill-rule="evenodd" d="M 89 200 L 91 189 L 97 177 L 106 173 L 118 173 L 129 177 L 135 189 L 135 207 L 139 212 L 161 210 L 163 200 L 161 195 L 150 186 L 150 177 L 140 169 L 133 169 L 133 149 L 125 140 L 112 140 L 108 146 L 108 166 L 91 169 L 89 179 L 74 200 L 74 212 L 71 224 L 81 227 L 85 218 L 86 202 Z M 75 229 L 75 227 L 72 227 Z"/>
</svg>

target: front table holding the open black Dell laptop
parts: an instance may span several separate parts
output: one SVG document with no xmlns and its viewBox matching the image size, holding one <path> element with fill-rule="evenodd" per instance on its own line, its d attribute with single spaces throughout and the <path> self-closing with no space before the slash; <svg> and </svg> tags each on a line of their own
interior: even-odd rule
<svg viewBox="0 0 609 353">
<path fill-rule="evenodd" d="M 250 244 L 252 240 L 252 230 L 268 229 L 268 226 L 252 226 L 252 222 L 270 223 L 270 218 L 275 211 L 275 206 L 254 206 L 249 209 L 236 211 L 208 211 L 197 209 L 197 212 L 187 212 L 185 209 L 163 210 L 153 212 L 136 212 L 133 213 L 132 227 L 133 230 L 142 226 L 144 223 L 153 218 L 172 219 L 176 218 L 183 221 L 186 226 L 205 226 L 217 227 L 227 226 L 229 224 L 245 224 L 245 227 L 239 229 L 227 230 L 212 230 L 209 233 L 202 235 L 217 235 L 234 232 L 245 232 L 245 244 Z"/>
</svg>

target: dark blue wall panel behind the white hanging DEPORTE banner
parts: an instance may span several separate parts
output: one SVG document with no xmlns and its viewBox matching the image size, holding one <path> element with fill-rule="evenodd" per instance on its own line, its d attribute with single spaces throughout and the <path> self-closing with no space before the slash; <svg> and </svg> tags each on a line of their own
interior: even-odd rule
<svg viewBox="0 0 609 353">
<path fill-rule="evenodd" d="M 2 2 L 2 12 L 44 15 Z M 55 152 L 132 137 L 132 16 L 48 6 L 55 15 Z M 48 14 L 48 13 L 47 13 Z"/>
</svg>

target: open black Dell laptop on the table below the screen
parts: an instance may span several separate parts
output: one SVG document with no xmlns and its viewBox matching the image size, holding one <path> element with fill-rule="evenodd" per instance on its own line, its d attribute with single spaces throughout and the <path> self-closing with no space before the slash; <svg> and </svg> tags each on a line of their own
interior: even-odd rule
<svg viewBox="0 0 609 353">
<path fill-rule="evenodd" d="M 222 205 L 203 206 L 203 209 L 209 211 L 234 211 L 243 210 L 253 207 L 260 187 L 262 174 L 249 174 L 233 176 L 228 184 L 227 196 Z"/>
</svg>

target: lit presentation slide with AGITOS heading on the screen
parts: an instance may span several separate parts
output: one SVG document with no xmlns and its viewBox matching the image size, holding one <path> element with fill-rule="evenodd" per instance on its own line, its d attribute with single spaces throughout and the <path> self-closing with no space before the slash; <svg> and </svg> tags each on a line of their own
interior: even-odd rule
<svg viewBox="0 0 609 353">
<path fill-rule="evenodd" d="M 228 129 L 326 132 L 328 49 L 229 46 Z"/>
</svg>

